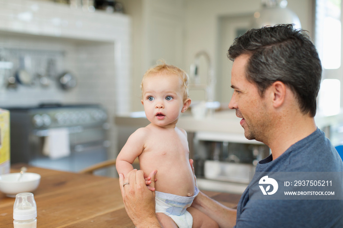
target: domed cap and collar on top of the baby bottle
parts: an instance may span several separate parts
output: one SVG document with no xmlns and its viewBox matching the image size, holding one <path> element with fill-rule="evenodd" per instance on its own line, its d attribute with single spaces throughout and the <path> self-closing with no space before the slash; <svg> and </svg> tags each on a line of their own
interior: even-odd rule
<svg viewBox="0 0 343 228">
<path fill-rule="evenodd" d="M 33 194 L 23 192 L 16 195 L 13 205 L 14 220 L 30 220 L 37 217 L 37 206 Z"/>
</svg>

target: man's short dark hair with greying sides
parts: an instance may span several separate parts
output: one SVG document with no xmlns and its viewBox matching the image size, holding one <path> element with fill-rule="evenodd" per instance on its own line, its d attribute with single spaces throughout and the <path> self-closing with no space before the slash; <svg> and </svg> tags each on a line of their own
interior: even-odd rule
<svg viewBox="0 0 343 228">
<path fill-rule="evenodd" d="M 257 85 L 261 96 L 281 81 L 295 93 L 301 112 L 315 116 L 322 68 L 306 31 L 292 24 L 250 29 L 234 40 L 227 57 L 234 61 L 242 54 L 250 55 L 246 79 Z"/>
</svg>

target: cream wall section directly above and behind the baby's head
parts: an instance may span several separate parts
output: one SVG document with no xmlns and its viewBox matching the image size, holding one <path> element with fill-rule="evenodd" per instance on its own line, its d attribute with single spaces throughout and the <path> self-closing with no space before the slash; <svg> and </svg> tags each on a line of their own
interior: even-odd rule
<svg viewBox="0 0 343 228">
<path fill-rule="evenodd" d="M 140 83 L 146 70 L 165 60 L 184 63 L 185 0 L 122 0 L 132 18 L 132 111 L 141 111 Z"/>
</svg>

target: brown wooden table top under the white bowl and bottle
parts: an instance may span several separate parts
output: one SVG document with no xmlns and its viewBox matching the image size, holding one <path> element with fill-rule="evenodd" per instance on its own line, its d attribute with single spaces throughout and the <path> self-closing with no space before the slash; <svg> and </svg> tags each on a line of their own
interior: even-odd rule
<svg viewBox="0 0 343 228">
<path fill-rule="evenodd" d="M 12 165 L 11 173 L 23 164 Z M 26 166 L 42 176 L 33 192 L 39 228 L 134 228 L 126 214 L 119 179 Z M 222 204 L 234 207 L 240 195 L 204 191 Z M 0 192 L 0 228 L 13 227 L 15 198 Z"/>
</svg>

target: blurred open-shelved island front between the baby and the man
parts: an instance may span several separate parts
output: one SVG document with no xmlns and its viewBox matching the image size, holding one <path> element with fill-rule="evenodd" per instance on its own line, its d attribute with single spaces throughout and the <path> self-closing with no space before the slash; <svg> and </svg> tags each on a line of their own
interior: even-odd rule
<svg viewBox="0 0 343 228">
<path fill-rule="evenodd" d="M 244 134 L 200 131 L 190 144 L 198 186 L 205 190 L 243 193 L 258 161 L 270 154 L 267 145 Z"/>
</svg>

